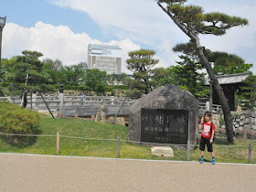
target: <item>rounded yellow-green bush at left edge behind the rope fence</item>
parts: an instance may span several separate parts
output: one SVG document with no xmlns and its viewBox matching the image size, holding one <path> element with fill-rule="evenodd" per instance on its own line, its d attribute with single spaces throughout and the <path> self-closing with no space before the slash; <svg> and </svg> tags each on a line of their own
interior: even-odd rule
<svg viewBox="0 0 256 192">
<path fill-rule="evenodd" d="M 38 112 L 29 111 L 9 102 L 0 102 L 0 132 L 35 133 L 41 121 Z"/>
</svg>

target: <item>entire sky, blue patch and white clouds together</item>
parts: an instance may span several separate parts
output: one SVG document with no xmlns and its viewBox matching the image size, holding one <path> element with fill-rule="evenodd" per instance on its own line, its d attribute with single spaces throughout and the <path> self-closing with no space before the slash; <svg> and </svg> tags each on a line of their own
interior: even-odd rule
<svg viewBox="0 0 256 192">
<path fill-rule="evenodd" d="M 201 45 L 212 51 L 234 53 L 253 64 L 256 74 L 255 0 L 188 0 L 205 12 L 222 12 L 249 20 L 221 37 L 200 36 Z M 156 4 L 155 0 L 0 0 L 0 16 L 6 16 L 2 58 L 35 50 L 41 59 L 59 59 L 66 66 L 87 62 L 89 44 L 115 45 L 123 49 L 122 72 L 128 52 L 155 50 L 155 67 L 176 65 L 176 44 L 188 37 Z"/>
</svg>

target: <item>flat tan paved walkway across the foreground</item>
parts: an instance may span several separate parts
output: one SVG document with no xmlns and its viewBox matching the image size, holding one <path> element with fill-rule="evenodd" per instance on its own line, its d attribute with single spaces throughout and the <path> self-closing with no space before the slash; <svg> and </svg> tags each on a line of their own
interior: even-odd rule
<svg viewBox="0 0 256 192">
<path fill-rule="evenodd" d="M 256 165 L 0 154 L 0 191 L 256 191 Z"/>
</svg>

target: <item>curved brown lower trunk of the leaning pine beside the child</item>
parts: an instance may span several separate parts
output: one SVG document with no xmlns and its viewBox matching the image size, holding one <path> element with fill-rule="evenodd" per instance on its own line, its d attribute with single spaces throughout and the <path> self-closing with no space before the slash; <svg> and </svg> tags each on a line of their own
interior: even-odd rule
<svg viewBox="0 0 256 192">
<path fill-rule="evenodd" d="M 196 44 L 197 44 L 197 54 L 202 62 L 202 64 L 205 66 L 205 68 L 208 71 L 208 76 L 209 79 L 212 80 L 212 85 L 214 90 L 217 92 L 219 101 L 222 107 L 222 111 L 224 114 L 224 121 L 226 125 L 226 134 L 227 134 L 227 139 L 229 144 L 234 144 L 234 138 L 233 138 L 233 126 L 232 126 L 232 117 L 231 117 L 231 112 L 229 109 L 229 102 L 226 99 L 226 96 L 224 95 L 223 89 L 219 85 L 219 81 L 217 80 L 213 69 L 211 68 L 208 59 L 205 57 L 204 52 L 202 50 L 202 47 L 200 46 L 199 40 L 196 39 Z"/>
</svg>

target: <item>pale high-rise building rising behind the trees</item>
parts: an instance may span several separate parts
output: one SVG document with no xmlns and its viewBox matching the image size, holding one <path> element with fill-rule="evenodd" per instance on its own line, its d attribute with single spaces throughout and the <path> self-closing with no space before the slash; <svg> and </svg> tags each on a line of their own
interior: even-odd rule
<svg viewBox="0 0 256 192">
<path fill-rule="evenodd" d="M 120 74 L 122 49 L 118 46 L 89 44 L 88 69 L 100 69 L 107 74 Z"/>
</svg>

